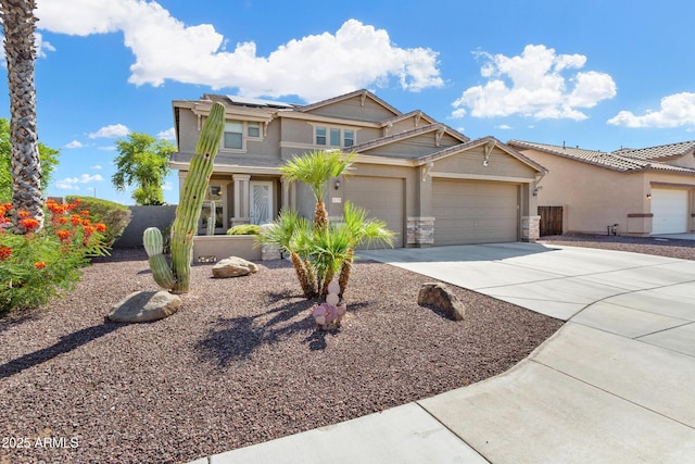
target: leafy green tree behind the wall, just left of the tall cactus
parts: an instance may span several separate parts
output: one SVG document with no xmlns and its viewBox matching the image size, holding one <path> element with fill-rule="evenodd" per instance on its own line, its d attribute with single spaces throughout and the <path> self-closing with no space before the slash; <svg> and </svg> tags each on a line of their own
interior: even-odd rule
<svg viewBox="0 0 695 464">
<path fill-rule="evenodd" d="M 137 204 L 162 204 L 162 185 L 170 172 L 169 155 L 176 151 L 174 143 L 155 139 L 144 133 L 131 133 L 116 141 L 116 174 L 111 178 L 116 190 L 137 186 L 132 198 Z"/>
</svg>

